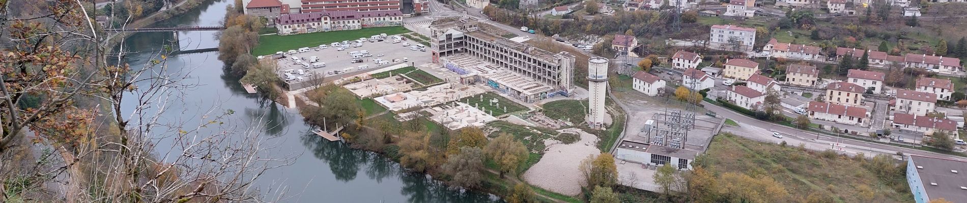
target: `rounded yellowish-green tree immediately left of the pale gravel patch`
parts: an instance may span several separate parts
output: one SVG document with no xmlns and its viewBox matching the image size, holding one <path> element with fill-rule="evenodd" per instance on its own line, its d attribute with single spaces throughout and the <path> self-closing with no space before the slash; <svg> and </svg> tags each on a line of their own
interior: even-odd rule
<svg viewBox="0 0 967 203">
<path fill-rule="evenodd" d="M 513 140 L 513 136 L 506 133 L 490 140 L 484 148 L 484 154 L 500 166 L 500 177 L 504 177 L 504 173 L 517 171 L 517 167 L 527 161 L 529 155 L 523 143 Z"/>
</svg>

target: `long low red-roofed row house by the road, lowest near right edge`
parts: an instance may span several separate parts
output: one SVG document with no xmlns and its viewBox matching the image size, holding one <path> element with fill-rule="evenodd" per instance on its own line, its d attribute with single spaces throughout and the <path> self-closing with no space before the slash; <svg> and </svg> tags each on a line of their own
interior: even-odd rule
<svg viewBox="0 0 967 203">
<path fill-rule="evenodd" d="M 894 128 L 923 132 L 923 135 L 932 135 L 938 130 L 947 131 L 952 135 L 957 134 L 957 121 L 949 118 L 903 113 L 894 113 L 893 117 Z"/>
</svg>

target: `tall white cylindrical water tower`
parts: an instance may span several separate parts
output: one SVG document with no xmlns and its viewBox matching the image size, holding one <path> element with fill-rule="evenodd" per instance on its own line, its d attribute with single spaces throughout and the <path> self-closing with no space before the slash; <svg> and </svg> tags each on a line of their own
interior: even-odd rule
<svg viewBox="0 0 967 203">
<path fill-rule="evenodd" d="M 601 128 L 604 124 L 604 97 L 607 91 L 607 59 L 588 60 L 588 126 Z"/>
</svg>

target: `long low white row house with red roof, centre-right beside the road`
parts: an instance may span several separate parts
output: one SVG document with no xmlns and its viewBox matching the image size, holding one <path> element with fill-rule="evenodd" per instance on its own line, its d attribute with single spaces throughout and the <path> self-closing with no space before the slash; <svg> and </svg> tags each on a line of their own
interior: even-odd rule
<svg viewBox="0 0 967 203">
<path fill-rule="evenodd" d="M 845 123 L 850 125 L 865 125 L 865 120 L 868 115 L 866 110 L 859 107 L 849 107 L 838 104 L 831 104 L 827 102 L 809 102 L 809 106 L 806 108 L 809 118 L 828 120 L 837 123 Z"/>
</svg>

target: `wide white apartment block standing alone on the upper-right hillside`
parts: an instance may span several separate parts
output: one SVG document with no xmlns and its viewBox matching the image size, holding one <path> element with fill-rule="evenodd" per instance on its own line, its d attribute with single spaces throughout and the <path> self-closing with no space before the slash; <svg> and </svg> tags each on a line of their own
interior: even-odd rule
<svg viewBox="0 0 967 203">
<path fill-rule="evenodd" d="M 755 28 L 735 25 L 713 25 L 709 36 L 709 48 L 726 51 L 752 51 Z"/>
</svg>

